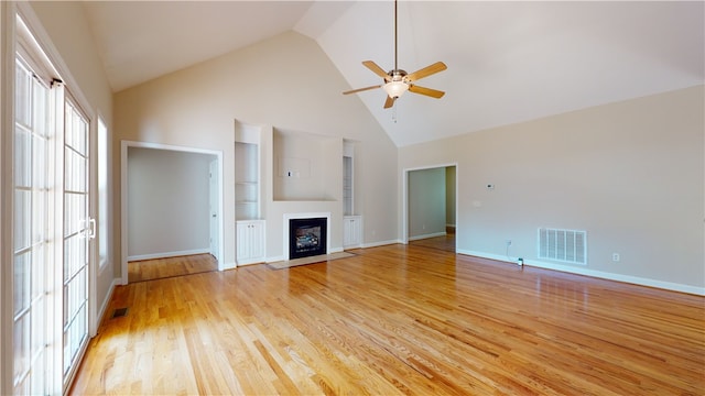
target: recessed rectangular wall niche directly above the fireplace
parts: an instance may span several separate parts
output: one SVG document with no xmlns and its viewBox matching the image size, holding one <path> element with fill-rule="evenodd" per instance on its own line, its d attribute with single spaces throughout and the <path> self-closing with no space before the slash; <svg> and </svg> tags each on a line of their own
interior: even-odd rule
<svg viewBox="0 0 705 396">
<path fill-rule="evenodd" d="M 343 141 L 304 132 L 273 131 L 275 201 L 339 200 Z"/>
</svg>

